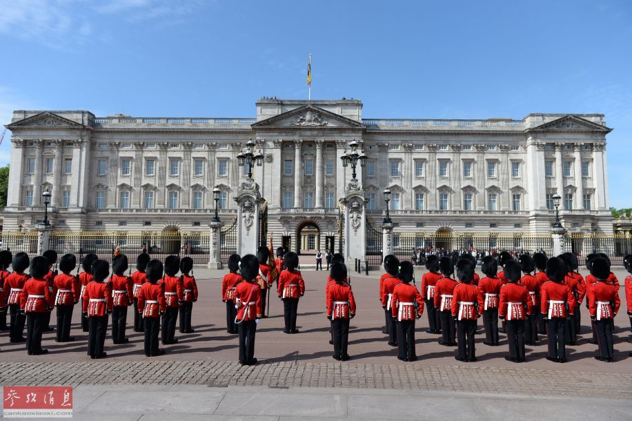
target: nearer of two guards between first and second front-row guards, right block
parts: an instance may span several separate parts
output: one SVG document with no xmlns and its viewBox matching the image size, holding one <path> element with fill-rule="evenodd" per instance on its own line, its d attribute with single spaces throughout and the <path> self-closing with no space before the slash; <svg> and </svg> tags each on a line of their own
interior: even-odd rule
<svg viewBox="0 0 632 421">
<path fill-rule="evenodd" d="M 443 275 L 435 286 L 435 308 L 439 310 L 443 332 L 443 337 L 439 338 L 439 344 L 456 346 L 456 326 L 455 317 L 452 315 L 452 297 L 457 282 L 450 277 L 454 273 L 452 259 L 450 257 L 442 257 L 439 260 L 439 270 Z"/>
</svg>

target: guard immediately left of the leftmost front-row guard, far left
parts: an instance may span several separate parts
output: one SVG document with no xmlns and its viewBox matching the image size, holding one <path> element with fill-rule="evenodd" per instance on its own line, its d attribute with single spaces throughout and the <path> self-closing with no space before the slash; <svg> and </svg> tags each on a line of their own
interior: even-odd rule
<svg viewBox="0 0 632 421">
<path fill-rule="evenodd" d="M 4 290 L 6 291 L 6 305 L 9 308 L 10 330 L 9 342 L 25 342 L 24 324 L 26 317 L 20 311 L 20 294 L 28 280 L 29 275 L 24 273 L 28 268 L 30 261 L 28 255 L 23 251 L 16 253 L 13 257 L 11 267 L 13 273 L 10 274 L 4 282 Z M 46 275 L 46 274 L 44 274 Z"/>
</svg>

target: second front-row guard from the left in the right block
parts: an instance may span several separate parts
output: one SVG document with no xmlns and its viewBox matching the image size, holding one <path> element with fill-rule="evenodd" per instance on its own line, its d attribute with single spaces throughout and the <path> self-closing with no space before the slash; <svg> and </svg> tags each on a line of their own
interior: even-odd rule
<svg viewBox="0 0 632 421">
<path fill-rule="evenodd" d="M 480 291 L 472 284 L 474 270 L 475 266 L 468 259 L 460 259 L 457 262 L 457 277 L 460 283 L 454 287 L 451 302 L 451 315 L 457 320 L 459 340 L 459 351 L 455 360 L 463 362 L 476 361 L 474 335 L 476 333 L 476 320 L 480 317 L 478 311 Z M 437 282 L 437 286 L 438 284 Z"/>
</svg>

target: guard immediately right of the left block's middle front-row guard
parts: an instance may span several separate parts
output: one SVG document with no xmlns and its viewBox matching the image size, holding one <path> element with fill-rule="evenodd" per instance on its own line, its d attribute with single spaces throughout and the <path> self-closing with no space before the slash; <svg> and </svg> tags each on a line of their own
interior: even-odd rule
<svg viewBox="0 0 632 421">
<path fill-rule="evenodd" d="M 125 273 L 129 268 L 127 256 L 119 254 L 112 258 L 110 288 L 112 288 L 112 342 L 126 344 L 127 308 L 134 304 L 134 282 Z"/>
</svg>

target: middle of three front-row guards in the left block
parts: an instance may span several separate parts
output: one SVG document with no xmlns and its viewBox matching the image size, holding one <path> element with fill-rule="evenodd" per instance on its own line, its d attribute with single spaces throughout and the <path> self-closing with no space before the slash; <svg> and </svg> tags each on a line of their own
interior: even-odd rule
<svg viewBox="0 0 632 421">
<path fill-rule="evenodd" d="M 83 313 L 88 313 L 88 355 L 92 360 L 105 358 L 103 351 L 108 331 L 108 315 L 112 313 L 112 289 L 105 282 L 110 265 L 105 260 L 92 262 L 92 280 L 83 290 Z"/>
</svg>

